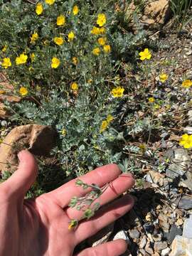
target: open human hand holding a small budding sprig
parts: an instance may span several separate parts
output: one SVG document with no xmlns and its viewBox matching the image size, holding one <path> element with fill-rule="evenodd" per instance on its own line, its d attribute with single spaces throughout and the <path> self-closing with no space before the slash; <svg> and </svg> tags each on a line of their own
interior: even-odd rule
<svg viewBox="0 0 192 256">
<path fill-rule="evenodd" d="M 90 188 L 83 190 L 72 180 L 38 198 L 24 200 L 36 180 L 38 168 L 28 151 L 21 151 L 18 159 L 18 170 L 0 185 L 0 256 L 71 256 L 76 245 L 114 222 L 133 206 L 132 198 L 124 196 L 102 207 L 90 220 L 82 220 L 75 230 L 69 230 L 70 219 L 80 219 L 82 215 L 80 211 L 68 207 L 70 199 L 85 196 Z M 111 183 L 99 198 L 103 206 L 133 186 L 131 175 L 120 174 L 116 164 L 109 164 L 80 179 L 88 184 L 94 181 L 100 187 Z M 76 256 L 117 256 L 126 249 L 124 240 L 116 240 L 87 248 Z"/>
</svg>

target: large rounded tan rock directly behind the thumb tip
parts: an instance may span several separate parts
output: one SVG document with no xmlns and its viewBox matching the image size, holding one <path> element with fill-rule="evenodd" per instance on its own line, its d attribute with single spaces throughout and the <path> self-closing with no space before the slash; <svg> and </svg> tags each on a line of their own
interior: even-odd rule
<svg viewBox="0 0 192 256">
<path fill-rule="evenodd" d="M 12 129 L 0 145 L 0 172 L 16 170 L 21 149 L 48 156 L 55 146 L 55 136 L 55 131 L 45 125 L 27 124 Z"/>
</svg>

